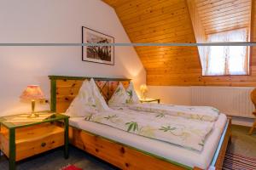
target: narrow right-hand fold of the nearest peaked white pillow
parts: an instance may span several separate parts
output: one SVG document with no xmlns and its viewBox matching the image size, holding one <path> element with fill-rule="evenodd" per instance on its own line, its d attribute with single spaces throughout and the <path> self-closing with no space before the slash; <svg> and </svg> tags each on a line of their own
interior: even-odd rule
<svg viewBox="0 0 256 170">
<path fill-rule="evenodd" d="M 96 108 L 98 111 L 108 111 L 109 107 L 103 98 L 102 94 L 99 91 L 99 88 L 96 85 L 96 82 L 94 82 L 94 79 L 90 79 L 90 87 L 92 89 L 92 95 L 95 99 Z"/>
</svg>

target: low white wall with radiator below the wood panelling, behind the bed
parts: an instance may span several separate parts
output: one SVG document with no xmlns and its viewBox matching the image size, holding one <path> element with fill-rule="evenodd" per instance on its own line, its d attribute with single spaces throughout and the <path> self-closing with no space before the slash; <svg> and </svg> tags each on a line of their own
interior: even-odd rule
<svg viewBox="0 0 256 170">
<path fill-rule="evenodd" d="M 148 98 L 176 105 L 211 105 L 233 116 L 232 123 L 252 126 L 255 109 L 250 100 L 253 88 L 148 86 Z M 195 93 L 198 93 L 195 95 Z M 244 114 L 244 115 L 243 115 Z M 243 117 L 242 117 L 243 116 Z"/>
</svg>

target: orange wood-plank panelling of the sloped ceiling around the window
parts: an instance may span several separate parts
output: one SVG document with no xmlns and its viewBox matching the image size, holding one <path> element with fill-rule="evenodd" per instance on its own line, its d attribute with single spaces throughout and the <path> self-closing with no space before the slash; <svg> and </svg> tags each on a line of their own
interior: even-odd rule
<svg viewBox="0 0 256 170">
<path fill-rule="evenodd" d="M 186 0 L 102 1 L 115 9 L 131 42 L 195 42 Z M 247 25 L 244 19 L 250 13 L 250 10 L 247 11 L 249 0 L 188 1 L 195 2 L 207 33 L 225 30 L 224 26 L 232 29 L 231 26 Z M 230 16 L 234 18 L 230 19 Z M 252 76 L 201 77 L 201 62 L 196 47 L 136 47 L 136 50 L 147 71 L 148 85 L 256 85 L 253 82 L 256 79 L 255 66 L 252 67 Z M 256 65 L 255 60 L 252 58 L 252 63 Z"/>
</svg>

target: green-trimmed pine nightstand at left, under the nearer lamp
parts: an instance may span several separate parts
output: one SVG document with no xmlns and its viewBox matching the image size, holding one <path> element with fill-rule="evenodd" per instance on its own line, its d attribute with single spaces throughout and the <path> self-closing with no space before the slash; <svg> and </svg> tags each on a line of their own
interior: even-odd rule
<svg viewBox="0 0 256 170">
<path fill-rule="evenodd" d="M 50 112 L 38 113 L 35 118 L 28 115 L 0 117 L 0 149 L 9 158 L 9 169 L 15 170 L 16 161 L 60 146 L 64 146 L 67 159 L 69 116 Z"/>
</svg>

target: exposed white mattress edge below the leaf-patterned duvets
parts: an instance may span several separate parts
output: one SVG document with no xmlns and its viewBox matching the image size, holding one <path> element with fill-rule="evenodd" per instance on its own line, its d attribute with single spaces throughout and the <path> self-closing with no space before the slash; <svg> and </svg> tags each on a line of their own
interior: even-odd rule
<svg viewBox="0 0 256 170">
<path fill-rule="evenodd" d="M 207 169 L 218 147 L 218 142 L 224 131 L 226 122 L 227 117 L 224 114 L 220 114 L 217 122 L 214 123 L 212 132 L 208 134 L 204 149 L 201 152 L 188 150 L 160 140 L 149 139 L 96 122 L 85 122 L 83 117 L 71 117 L 69 123 L 73 127 L 78 127 L 90 133 L 96 133 L 119 143 L 130 145 L 138 150 L 154 154 L 155 156 L 161 156 L 188 167 Z"/>
</svg>

